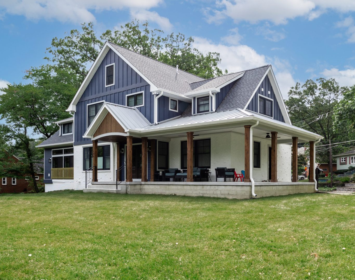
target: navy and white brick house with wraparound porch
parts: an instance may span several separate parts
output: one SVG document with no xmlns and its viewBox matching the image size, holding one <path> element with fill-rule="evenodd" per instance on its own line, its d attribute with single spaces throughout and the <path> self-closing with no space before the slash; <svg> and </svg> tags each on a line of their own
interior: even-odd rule
<svg viewBox="0 0 355 280">
<path fill-rule="evenodd" d="M 203 79 L 105 42 L 67 112 L 72 118 L 38 146 L 46 191 L 228 198 L 315 191 L 313 173 L 312 183 L 290 182 L 291 149 L 309 142 L 314 170 L 322 136 L 291 124 L 271 65 Z M 245 171 L 244 182 L 216 178 L 217 167 Z M 169 168 L 186 182 L 165 178 Z M 197 168 L 208 169 L 209 182 L 194 182 Z"/>
</svg>

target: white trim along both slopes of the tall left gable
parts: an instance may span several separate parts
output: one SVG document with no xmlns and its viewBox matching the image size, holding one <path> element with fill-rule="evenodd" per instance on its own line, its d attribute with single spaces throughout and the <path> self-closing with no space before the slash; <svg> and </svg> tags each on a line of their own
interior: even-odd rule
<svg viewBox="0 0 355 280">
<path fill-rule="evenodd" d="M 67 112 L 76 112 L 76 104 L 80 100 L 80 97 L 84 93 L 86 87 L 88 86 L 89 82 L 93 78 L 94 74 L 96 73 L 97 69 L 100 66 L 100 63 L 103 61 L 105 55 L 107 55 L 109 50 L 113 50 L 124 62 L 126 62 L 135 72 L 138 73 L 144 80 L 148 82 L 149 85 L 151 85 L 151 91 L 157 90 L 157 87 L 149 81 L 146 76 L 144 76 L 136 67 L 134 67 L 124 56 L 121 55 L 113 46 L 109 44 L 108 41 L 105 42 L 104 46 L 102 47 L 99 55 L 95 59 L 94 63 L 91 65 L 91 68 L 89 69 L 89 72 L 85 76 L 84 81 L 81 83 L 78 91 L 76 92 L 73 100 L 71 101 L 68 109 L 66 109 Z"/>
</svg>

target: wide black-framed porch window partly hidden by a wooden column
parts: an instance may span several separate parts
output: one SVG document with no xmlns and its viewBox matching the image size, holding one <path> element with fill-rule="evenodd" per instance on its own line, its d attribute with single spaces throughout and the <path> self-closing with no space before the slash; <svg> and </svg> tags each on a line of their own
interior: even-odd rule
<svg viewBox="0 0 355 280">
<path fill-rule="evenodd" d="M 211 168 L 211 139 L 193 140 L 192 165 Z M 187 141 L 181 141 L 181 168 L 187 168 Z"/>
</svg>

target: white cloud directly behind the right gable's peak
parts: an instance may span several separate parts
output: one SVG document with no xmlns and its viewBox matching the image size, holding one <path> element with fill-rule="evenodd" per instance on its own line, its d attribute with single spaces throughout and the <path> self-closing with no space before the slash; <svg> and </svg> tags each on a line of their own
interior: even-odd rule
<svg viewBox="0 0 355 280">
<path fill-rule="evenodd" d="M 257 53 L 253 48 L 246 45 L 224 45 L 214 44 L 205 38 L 195 37 L 194 47 L 206 52 L 219 52 L 222 59 L 218 67 L 222 70 L 228 69 L 230 73 L 239 72 L 246 69 L 260 67 L 266 64 L 273 64 L 273 70 L 283 97 L 291 86 L 296 84 L 289 69 L 290 64 L 287 61 L 280 61 L 278 58 L 269 58 Z"/>
</svg>

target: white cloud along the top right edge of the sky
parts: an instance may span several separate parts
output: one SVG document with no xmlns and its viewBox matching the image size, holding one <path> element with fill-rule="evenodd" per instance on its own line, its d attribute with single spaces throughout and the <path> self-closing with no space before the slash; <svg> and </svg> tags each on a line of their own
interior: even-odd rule
<svg viewBox="0 0 355 280">
<path fill-rule="evenodd" d="M 225 16 L 235 22 L 269 21 L 275 24 L 285 24 L 289 19 L 300 16 L 313 20 L 327 10 L 342 13 L 355 11 L 353 0 L 219 0 L 216 6 L 210 11 L 219 18 Z"/>
</svg>

